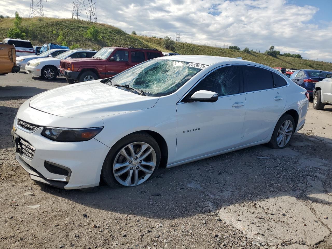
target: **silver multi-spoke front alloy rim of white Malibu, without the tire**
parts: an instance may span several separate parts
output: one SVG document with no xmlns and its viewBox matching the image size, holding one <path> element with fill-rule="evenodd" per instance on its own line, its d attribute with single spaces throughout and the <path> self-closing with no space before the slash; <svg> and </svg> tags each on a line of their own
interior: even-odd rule
<svg viewBox="0 0 332 249">
<path fill-rule="evenodd" d="M 145 142 L 133 142 L 124 146 L 113 163 L 113 175 L 124 186 L 137 186 L 145 182 L 157 164 L 156 152 Z"/>
</svg>

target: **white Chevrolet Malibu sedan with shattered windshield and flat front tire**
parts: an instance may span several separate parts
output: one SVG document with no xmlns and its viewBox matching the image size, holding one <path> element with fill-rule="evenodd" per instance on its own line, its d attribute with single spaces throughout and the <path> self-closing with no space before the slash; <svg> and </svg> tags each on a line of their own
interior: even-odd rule
<svg viewBox="0 0 332 249">
<path fill-rule="evenodd" d="M 159 57 L 41 93 L 18 110 L 16 159 L 31 179 L 78 189 L 137 186 L 158 167 L 268 144 L 302 128 L 306 90 L 276 70 L 214 56 Z"/>
</svg>

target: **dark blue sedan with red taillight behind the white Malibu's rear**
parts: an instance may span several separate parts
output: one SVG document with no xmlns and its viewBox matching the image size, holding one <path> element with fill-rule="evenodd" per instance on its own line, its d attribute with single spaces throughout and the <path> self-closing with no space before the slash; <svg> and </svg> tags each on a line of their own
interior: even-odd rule
<svg viewBox="0 0 332 249">
<path fill-rule="evenodd" d="M 326 74 L 331 73 L 322 70 L 311 70 L 311 69 L 301 69 L 294 72 L 290 79 L 294 81 L 297 85 L 305 88 L 309 93 L 310 97 L 312 96 L 313 89 L 315 84 L 318 81 L 321 81 L 326 78 Z"/>
</svg>

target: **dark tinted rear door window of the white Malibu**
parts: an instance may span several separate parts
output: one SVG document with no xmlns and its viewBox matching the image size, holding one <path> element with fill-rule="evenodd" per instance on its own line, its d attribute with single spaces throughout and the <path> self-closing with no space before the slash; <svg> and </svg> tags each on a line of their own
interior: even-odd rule
<svg viewBox="0 0 332 249">
<path fill-rule="evenodd" d="M 253 92 L 273 88 L 272 72 L 254 66 L 243 66 L 244 91 Z"/>
</svg>

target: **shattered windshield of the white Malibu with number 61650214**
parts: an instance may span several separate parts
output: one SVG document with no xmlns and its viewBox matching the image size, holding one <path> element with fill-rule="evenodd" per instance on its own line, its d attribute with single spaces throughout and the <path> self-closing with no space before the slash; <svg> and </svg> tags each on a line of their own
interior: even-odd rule
<svg viewBox="0 0 332 249">
<path fill-rule="evenodd" d="M 152 59 L 112 78 L 112 84 L 128 85 L 147 96 L 165 96 L 178 90 L 206 65 L 185 61 Z"/>
</svg>

